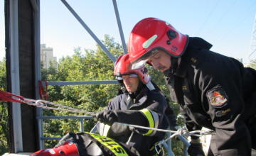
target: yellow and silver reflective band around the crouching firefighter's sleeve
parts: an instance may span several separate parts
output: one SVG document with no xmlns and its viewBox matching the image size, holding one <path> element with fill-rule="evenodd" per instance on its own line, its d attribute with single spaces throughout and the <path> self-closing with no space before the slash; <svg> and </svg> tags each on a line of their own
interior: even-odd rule
<svg viewBox="0 0 256 156">
<path fill-rule="evenodd" d="M 149 121 L 149 128 L 158 128 L 159 116 L 156 112 L 150 111 L 149 109 L 146 109 L 146 108 L 139 111 L 142 111 L 142 113 L 144 113 L 147 120 Z M 155 133 L 156 133 L 156 130 L 148 130 L 147 133 L 145 133 L 144 135 L 153 136 Z"/>
</svg>

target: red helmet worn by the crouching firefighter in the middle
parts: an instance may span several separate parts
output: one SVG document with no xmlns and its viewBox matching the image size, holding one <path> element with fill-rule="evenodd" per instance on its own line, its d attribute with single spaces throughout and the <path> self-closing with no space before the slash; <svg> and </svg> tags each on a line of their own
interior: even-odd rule
<svg viewBox="0 0 256 156">
<path fill-rule="evenodd" d="M 147 84 L 150 81 L 148 69 L 145 65 L 141 65 L 137 69 L 132 69 L 132 64 L 129 60 L 129 54 L 120 55 L 117 61 L 114 63 L 114 76 L 117 79 L 122 79 L 122 75 L 129 74 L 130 77 L 137 76 L 144 83 Z M 136 74 L 136 75 L 134 75 Z"/>
</svg>

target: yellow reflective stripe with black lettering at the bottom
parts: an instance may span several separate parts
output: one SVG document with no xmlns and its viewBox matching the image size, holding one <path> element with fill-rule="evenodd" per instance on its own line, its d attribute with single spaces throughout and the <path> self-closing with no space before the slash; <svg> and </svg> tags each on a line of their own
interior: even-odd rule
<svg viewBox="0 0 256 156">
<path fill-rule="evenodd" d="M 114 155 L 129 156 L 127 152 L 124 150 L 124 148 L 118 143 L 116 143 L 114 140 L 101 135 L 94 134 L 94 133 L 88 133 L 88 134 L 92 135 L 93 138 L 97 139 L 98 141 L 100 141 L 100 143 L 108 147 L 112 152 L 114 152 Z"/>
</svg>

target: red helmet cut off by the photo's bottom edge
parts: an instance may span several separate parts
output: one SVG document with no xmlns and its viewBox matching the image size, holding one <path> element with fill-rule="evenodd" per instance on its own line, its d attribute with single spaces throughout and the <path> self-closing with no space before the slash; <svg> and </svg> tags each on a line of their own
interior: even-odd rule
<svg viewBox="0 0 256 156">
<path fill-rule="evenodd" d="M 66 141 L 63 145 L 52 149 L 38 150 L 30 156 L 79 156 L 78 148 L 72 141 Z"/>
</svg>

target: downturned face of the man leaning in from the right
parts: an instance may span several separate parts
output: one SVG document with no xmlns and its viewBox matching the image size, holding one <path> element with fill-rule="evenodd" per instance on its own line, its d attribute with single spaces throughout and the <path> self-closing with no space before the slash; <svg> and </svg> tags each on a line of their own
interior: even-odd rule
<svg viewBox="0 0 256 156">
<path fill-rule="evenodd" d="M 149 62 L 154 69 L 164 72 L 171 67 L 171 55 L 164 50 L 157 50 L 155 55 L 150 56 Z"/>
</svg>

